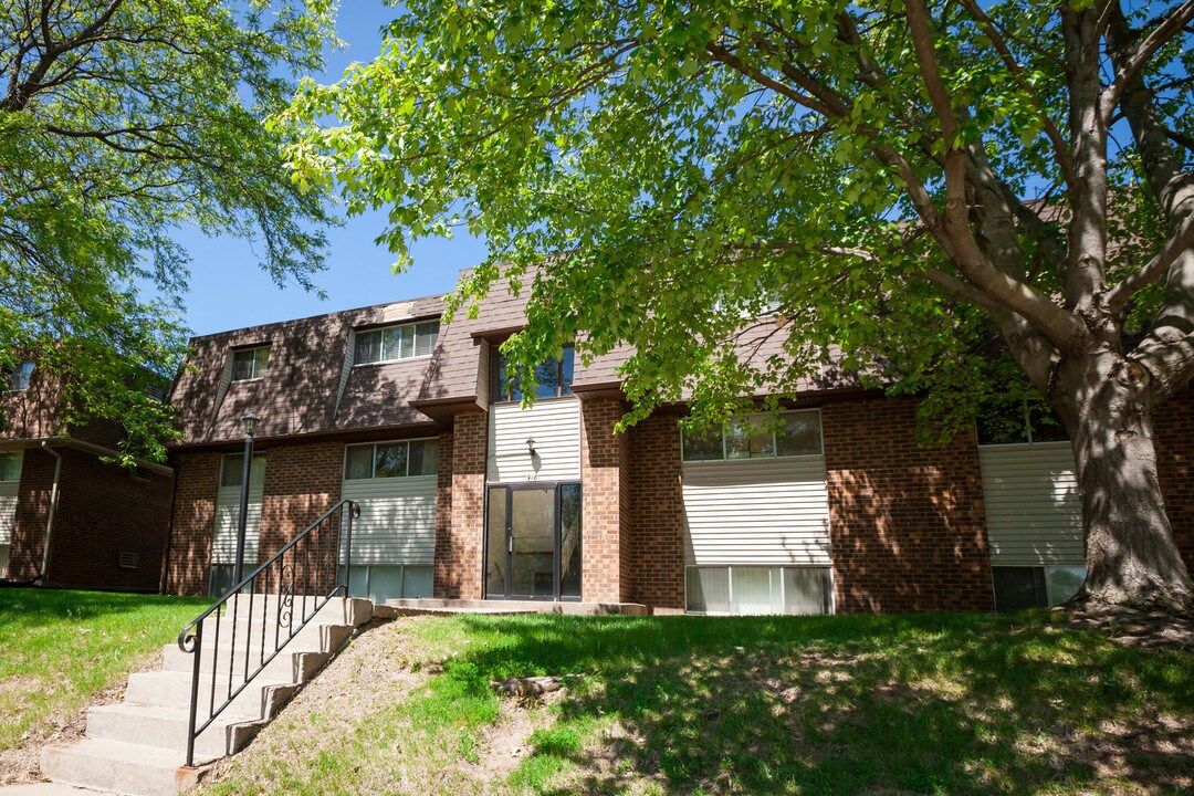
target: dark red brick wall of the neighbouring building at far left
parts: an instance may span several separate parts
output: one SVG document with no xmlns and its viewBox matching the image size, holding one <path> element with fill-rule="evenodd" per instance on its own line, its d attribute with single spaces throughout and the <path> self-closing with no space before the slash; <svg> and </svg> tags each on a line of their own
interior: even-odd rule
<svg viewBox="0 0 1194 796">
<path fill-rule="evenodd" d="M 55 450 L 62 456 L 62 471 L 44 585 L 156 592 L 173 480 L 158 474 L 137 480 L 93 453 Z M 42 568 L 54 465 L 49 453 L 25 451 L 10 553 L 12 579 L 32 578 Z M 137 555 L 135 569 L 118 566 L 121 553 Z"/>
</svg>

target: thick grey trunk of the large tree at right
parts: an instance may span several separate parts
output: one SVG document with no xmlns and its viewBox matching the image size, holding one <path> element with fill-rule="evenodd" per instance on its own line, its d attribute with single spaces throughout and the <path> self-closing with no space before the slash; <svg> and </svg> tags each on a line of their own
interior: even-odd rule
<svg viewBox="0 0 1194 796">
<path fill-rule="evenodd" d="M 1157 479 L 1146 371 L 1103 351 L 1064 364 L 1059 377 L 1087 539 L 1087 581 L 1072 604 L 1190 611 L 1194 584 Z"/>
</svg>

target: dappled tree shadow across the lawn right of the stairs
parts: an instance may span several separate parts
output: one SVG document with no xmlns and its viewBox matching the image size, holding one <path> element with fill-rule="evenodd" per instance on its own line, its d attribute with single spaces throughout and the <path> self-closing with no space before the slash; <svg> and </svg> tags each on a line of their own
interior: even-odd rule
<svg viewBox="0 0 1194 796">
<path fill-rule="evenodd" d="M 614 720 L 595 742 L 538 747 L 580 777 L 538 792 L 1181 792 L 1194 778 L 1194 656 L 1041 613 L 464 622 L 491 636 L 456 664 L 479 686 L 581 673 L 556 727 Z"/>
</svg>

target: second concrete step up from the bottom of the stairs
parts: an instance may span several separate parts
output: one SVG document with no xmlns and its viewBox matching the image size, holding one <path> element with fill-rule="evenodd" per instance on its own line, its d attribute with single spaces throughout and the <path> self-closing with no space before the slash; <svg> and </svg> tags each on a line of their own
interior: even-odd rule
<svg viewBox="0 0 1194 796">
<path fill-rule="evenodd" d="M 87 738 L 123 743 L 142 743 L 173 752 L 186 752 L 190 714 L 185 708 L 122 703 L 87 710 Z M 265 721 L 236 721 L 219 716 L 195 739 L 198 758 L 235 754 L 265 727 Z"/>
</svg>

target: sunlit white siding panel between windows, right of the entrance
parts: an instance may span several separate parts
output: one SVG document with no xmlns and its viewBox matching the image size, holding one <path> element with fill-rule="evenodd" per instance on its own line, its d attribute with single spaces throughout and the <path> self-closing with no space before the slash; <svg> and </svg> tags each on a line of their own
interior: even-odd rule
<svg viewBox="0 0 1194 796">
<path fill-rule="evenodd" d="M 688 564 L 829 566 L 824 456 L 685 462 Z"/>
</svg>

